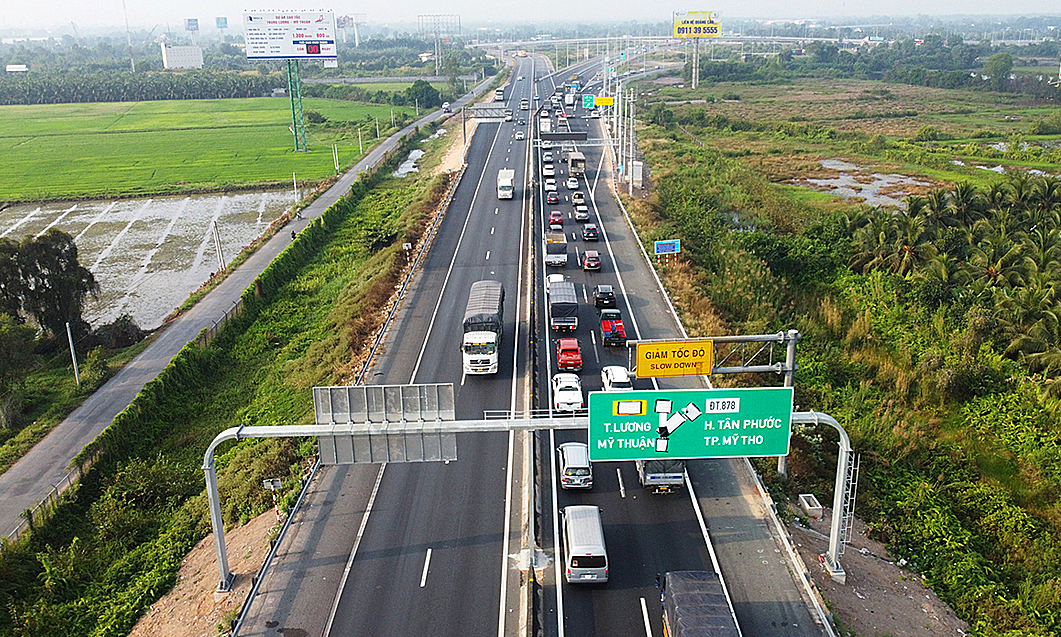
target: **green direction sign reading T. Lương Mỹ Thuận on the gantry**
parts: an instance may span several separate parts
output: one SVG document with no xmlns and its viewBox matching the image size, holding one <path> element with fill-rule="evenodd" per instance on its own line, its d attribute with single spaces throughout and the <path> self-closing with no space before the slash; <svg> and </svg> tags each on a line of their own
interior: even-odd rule
<svg viewBox="0 0 1061 637">
<path fill-rule="evenodd" d="M 590 458 L 787 455 L 792 388 L 590 394 Z"/>
</svg>

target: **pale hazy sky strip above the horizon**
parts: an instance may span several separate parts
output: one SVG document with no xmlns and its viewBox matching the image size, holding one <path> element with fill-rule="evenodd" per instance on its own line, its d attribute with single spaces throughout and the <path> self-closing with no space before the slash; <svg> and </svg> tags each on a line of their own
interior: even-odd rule
<svg viewBox="0 0 1061 637">
<path fill-rule="evenodd" d="M 356 3 L 335 0 L 332 3 L 261 2 L 254 0 L 184 0 L 166 2 L 159 0 L 124 0 L 128 11 L 129 25 L 135 29 L 179 31 L 185 18 L 198 18 L 201 29 L 213 31 L 214 18 L 227 17 L 230 29 L 239 29 L 244 10 L 278 8 L 330 8 L 336 16 L 353 13 L 365 14 L 368 23 L 412 23 L 416 24 L 420 14 L 457 14 L 462 23 L 471 24 L 485 20 L 498 22 L 534 22 L 546 30 L 556 22 L 599 22 L 637 20 L 645 22 L 666 21 L 675 11 L 712 11 L 734 18 L 765 19 L 822 19 L 839 17 L 869 16 L 916 16 L 916 15 L 1061 15 L 1061 0 L 760 0 L 758 2 L 736 0 L 713 0 L 700 5 L 672 5 L 644 0 L 538 0 L 534 3 L 517 5 L 499 0 L 388 0 L 386 2 Z M 0 31 L 50 29 L 70 33 L 70 22 L 81 30 L 106 27 L 122 28 L 125 18 L 123 0 L 0 0 L 3 16 Z M 522 16 L 517 16 L 516 6 L 527 7 Z"/>
</svg>

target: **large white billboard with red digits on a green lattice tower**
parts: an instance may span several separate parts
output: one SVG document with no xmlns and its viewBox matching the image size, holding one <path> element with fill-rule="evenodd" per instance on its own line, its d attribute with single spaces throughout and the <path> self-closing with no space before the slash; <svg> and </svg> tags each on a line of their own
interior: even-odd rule
<svg viewBox="0 0 1061 637">
<path fill-rule="evenodd" d="M 335 59 L 335 14 L 330 11 L 243 14 L 247 59 Z"/>
</svg>

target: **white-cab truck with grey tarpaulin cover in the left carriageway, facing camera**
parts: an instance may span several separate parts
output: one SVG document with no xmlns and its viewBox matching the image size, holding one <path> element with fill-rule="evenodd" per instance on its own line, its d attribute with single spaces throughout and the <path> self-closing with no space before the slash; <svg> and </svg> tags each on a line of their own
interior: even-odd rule
<svg viewBox="0 0 1061 637">
<path fill-rule="evenodd" d="M 501 281 L 483 280 L 471 285 L 460 344 L 465 374 L 498 373 L 504 308 L 505 287 Z"/>
</svg>

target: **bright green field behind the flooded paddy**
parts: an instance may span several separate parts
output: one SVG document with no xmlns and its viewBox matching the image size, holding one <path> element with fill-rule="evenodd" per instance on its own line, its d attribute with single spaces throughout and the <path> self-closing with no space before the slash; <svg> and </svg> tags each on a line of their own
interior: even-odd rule
<svg viewBox="0 0 1061 637">
<path fill-rule="evenodd" d="M 283 98 L 0 107 L 0 202 L 216 190 L 317 180 L 360 158 L 390 128 L 389 106 L 303 100 L 328 124 L 307 124 L 295 153 Z M 395 115 L 412 113 L 395 108 Z M 366 119 L 367 118 L 367 119 Z"/>
</svg>

